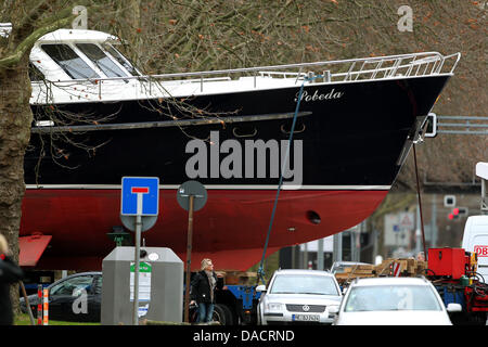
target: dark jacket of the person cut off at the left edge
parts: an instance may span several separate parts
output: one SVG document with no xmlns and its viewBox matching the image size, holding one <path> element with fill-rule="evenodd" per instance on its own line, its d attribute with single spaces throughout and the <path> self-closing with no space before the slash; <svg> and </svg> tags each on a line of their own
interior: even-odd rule
<svg viewBox="0 0 488 347">
<path fill-rule="evenodd" d="M 0 325 L 13 324 L 10 284 L 24 277 L 24 272 L 9 257 L 0 258 Z"/>
</svg>

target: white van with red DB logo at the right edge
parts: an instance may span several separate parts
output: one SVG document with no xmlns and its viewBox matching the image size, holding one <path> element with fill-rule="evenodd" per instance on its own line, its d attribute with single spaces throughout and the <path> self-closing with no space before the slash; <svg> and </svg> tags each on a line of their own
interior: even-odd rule
<svg viewBox="0 0 488 347">
<path fill-rule="evenodd" d="M 477 253 L 477 272 L 483 275 L 485 283 L 488 283 L 488 215 L 467 218 L 462 247 L 466 252 Z"/>
</svg>

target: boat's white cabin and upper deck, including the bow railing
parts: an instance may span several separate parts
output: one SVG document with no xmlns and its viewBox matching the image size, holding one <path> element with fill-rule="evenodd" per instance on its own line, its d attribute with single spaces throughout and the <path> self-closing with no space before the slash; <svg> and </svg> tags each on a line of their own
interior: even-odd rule
<svg viewBox="0 0 488 347">
<path fill-rule="evenodd" d="M 59 29 L 34 46 L 31 104 L 180 98 L 202 94 L 452 75 L 460 53 L 437 52 L 239 69 L 143 76 L 117 49 L 120 40 L 95 30 Z M 446 61 L 451 64 L 446 66 Z"/>
</svg>

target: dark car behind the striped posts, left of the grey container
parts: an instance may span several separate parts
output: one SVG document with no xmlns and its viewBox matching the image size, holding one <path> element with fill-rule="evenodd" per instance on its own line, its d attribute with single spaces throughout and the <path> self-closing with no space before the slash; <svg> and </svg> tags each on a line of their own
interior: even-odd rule
<svg viewBox="0 0 488 347">
<path fill-rule="evenodd" d="M 100 322 L 102 304 L 102 272 L 80 272 L 61 279 L 48 286 L 49 319 L 74 322 Z M 37 294 L 28 296 L 34 317 Z M 21 310 L 27 312 L 25 299 Z"/>
</svg>

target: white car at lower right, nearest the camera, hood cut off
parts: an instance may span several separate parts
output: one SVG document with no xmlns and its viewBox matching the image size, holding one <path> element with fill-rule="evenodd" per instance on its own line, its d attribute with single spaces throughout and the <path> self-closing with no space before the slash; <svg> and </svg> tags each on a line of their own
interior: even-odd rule
<svg viewBox="0 0 488 347">
<path fill-rule="evenodd" d="M 424 278 L 358 279 L 344 296 L 335 325 L 452 325 L 434 285 Z"/>
</svg>

